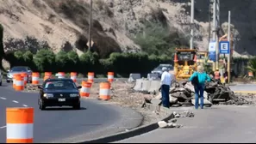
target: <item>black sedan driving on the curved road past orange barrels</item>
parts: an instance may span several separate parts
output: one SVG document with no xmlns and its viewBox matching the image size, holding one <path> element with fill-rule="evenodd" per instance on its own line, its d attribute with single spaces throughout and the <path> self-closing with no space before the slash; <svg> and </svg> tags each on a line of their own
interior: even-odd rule
<svg viewBox="0 0 256 144">
<path fill-rule="evenodd" d="M 80 95 L 72 79 L 47 79 L 40 88 L 40 97 L 38 105 L 41 110 L 47 106 L 72 106 L 74 109 L 80 109 Z"/>
</svg>

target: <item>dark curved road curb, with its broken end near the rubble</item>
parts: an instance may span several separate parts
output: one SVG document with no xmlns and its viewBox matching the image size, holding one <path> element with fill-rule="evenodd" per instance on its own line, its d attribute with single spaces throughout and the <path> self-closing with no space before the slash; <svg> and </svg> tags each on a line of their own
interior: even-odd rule
<svg viewBox="0 0 256 144">
<path fill-rule="evenodd" d="M 167 117 L 165 117 L 163 119 L 163 121 L 168 121 L 169 119 L 174 118 L 174 115 L 172 114 L 170 109 L 167 109 L 165 107 L 161 107 L 158 105 L 152 105 L 152 104 L 147 104 L 146 106 L 151 111 L 165 112 L 167 114 Z M 152 131 L 152 130 L 158 129 L 158 128 L 159 128 L 158 122 L 155 122 L 155 123 L 150 123 L 150 124 L 147 124 L 144 126 L 140 126 L 135 129 L 131 129 L 126 132 L 121 132 L 121 133 L 117 133 L 114 135 L 107 135 L 107 136 L 103 136 L 103 137 L 100 137 L 97 139 L 92 139 L 92 140 L 88 140 L 88 141 L 80 141 L 80 142 L 76 142 L 76 143 L 109 143 L 109 142 L 114 142 L 114 141 L 121 141 L 123 139 L 128 139 L 128 138 L 134 137 L 136 135 L 141 135 L 141 134 L 147 133 L 149 131 Z"/>
</svg>

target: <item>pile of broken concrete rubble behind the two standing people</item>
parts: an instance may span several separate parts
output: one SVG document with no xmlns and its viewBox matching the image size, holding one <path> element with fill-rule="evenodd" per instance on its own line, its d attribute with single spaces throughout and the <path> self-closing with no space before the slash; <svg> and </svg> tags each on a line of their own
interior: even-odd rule
<svg viewBox="0 0 256 144">
<path fill-rule="evenodd" d="M 213 104 L 222 105 L 246 105 L 250 104 L 246 99 L 240 98 L 228 87 L 218 81 L 207 82 L 203 92 L 205 106 Z M 151 103 L 160 105 L 161 93 Z M 195 89 L 190 82 L 174 82 L 170 88 L 170 104 L 172 107 L 195 105 Z M 199 100 L 200 104 L 200 100 Z"/>
</svg>

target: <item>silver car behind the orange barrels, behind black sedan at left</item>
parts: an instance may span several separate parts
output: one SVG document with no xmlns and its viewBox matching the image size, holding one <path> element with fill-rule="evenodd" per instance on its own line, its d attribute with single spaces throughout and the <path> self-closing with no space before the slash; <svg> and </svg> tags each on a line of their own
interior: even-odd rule
<svg viewBox="0 0 256 144">
<path fill-rule="evenodd" d="M 32 70 L 29 67 L 26 66 L 15 66 L 8 70 L 6 82 L 12 81 L 14 74 L 20 74 L 22 72 L 26 72 L 28 75 L 28 83 L 32 82 Z"/>
</svg>

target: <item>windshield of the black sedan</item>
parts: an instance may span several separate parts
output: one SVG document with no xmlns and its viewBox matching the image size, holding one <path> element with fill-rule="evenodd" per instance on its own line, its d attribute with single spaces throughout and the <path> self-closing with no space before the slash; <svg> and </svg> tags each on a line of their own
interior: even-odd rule
<svg viewBox="0 0 256 144">
<path fill-rule="evenodd" d="M 76 89 L 73 81 L 47 81 L 44 85 L 46 89 Z"/>
</svg>

